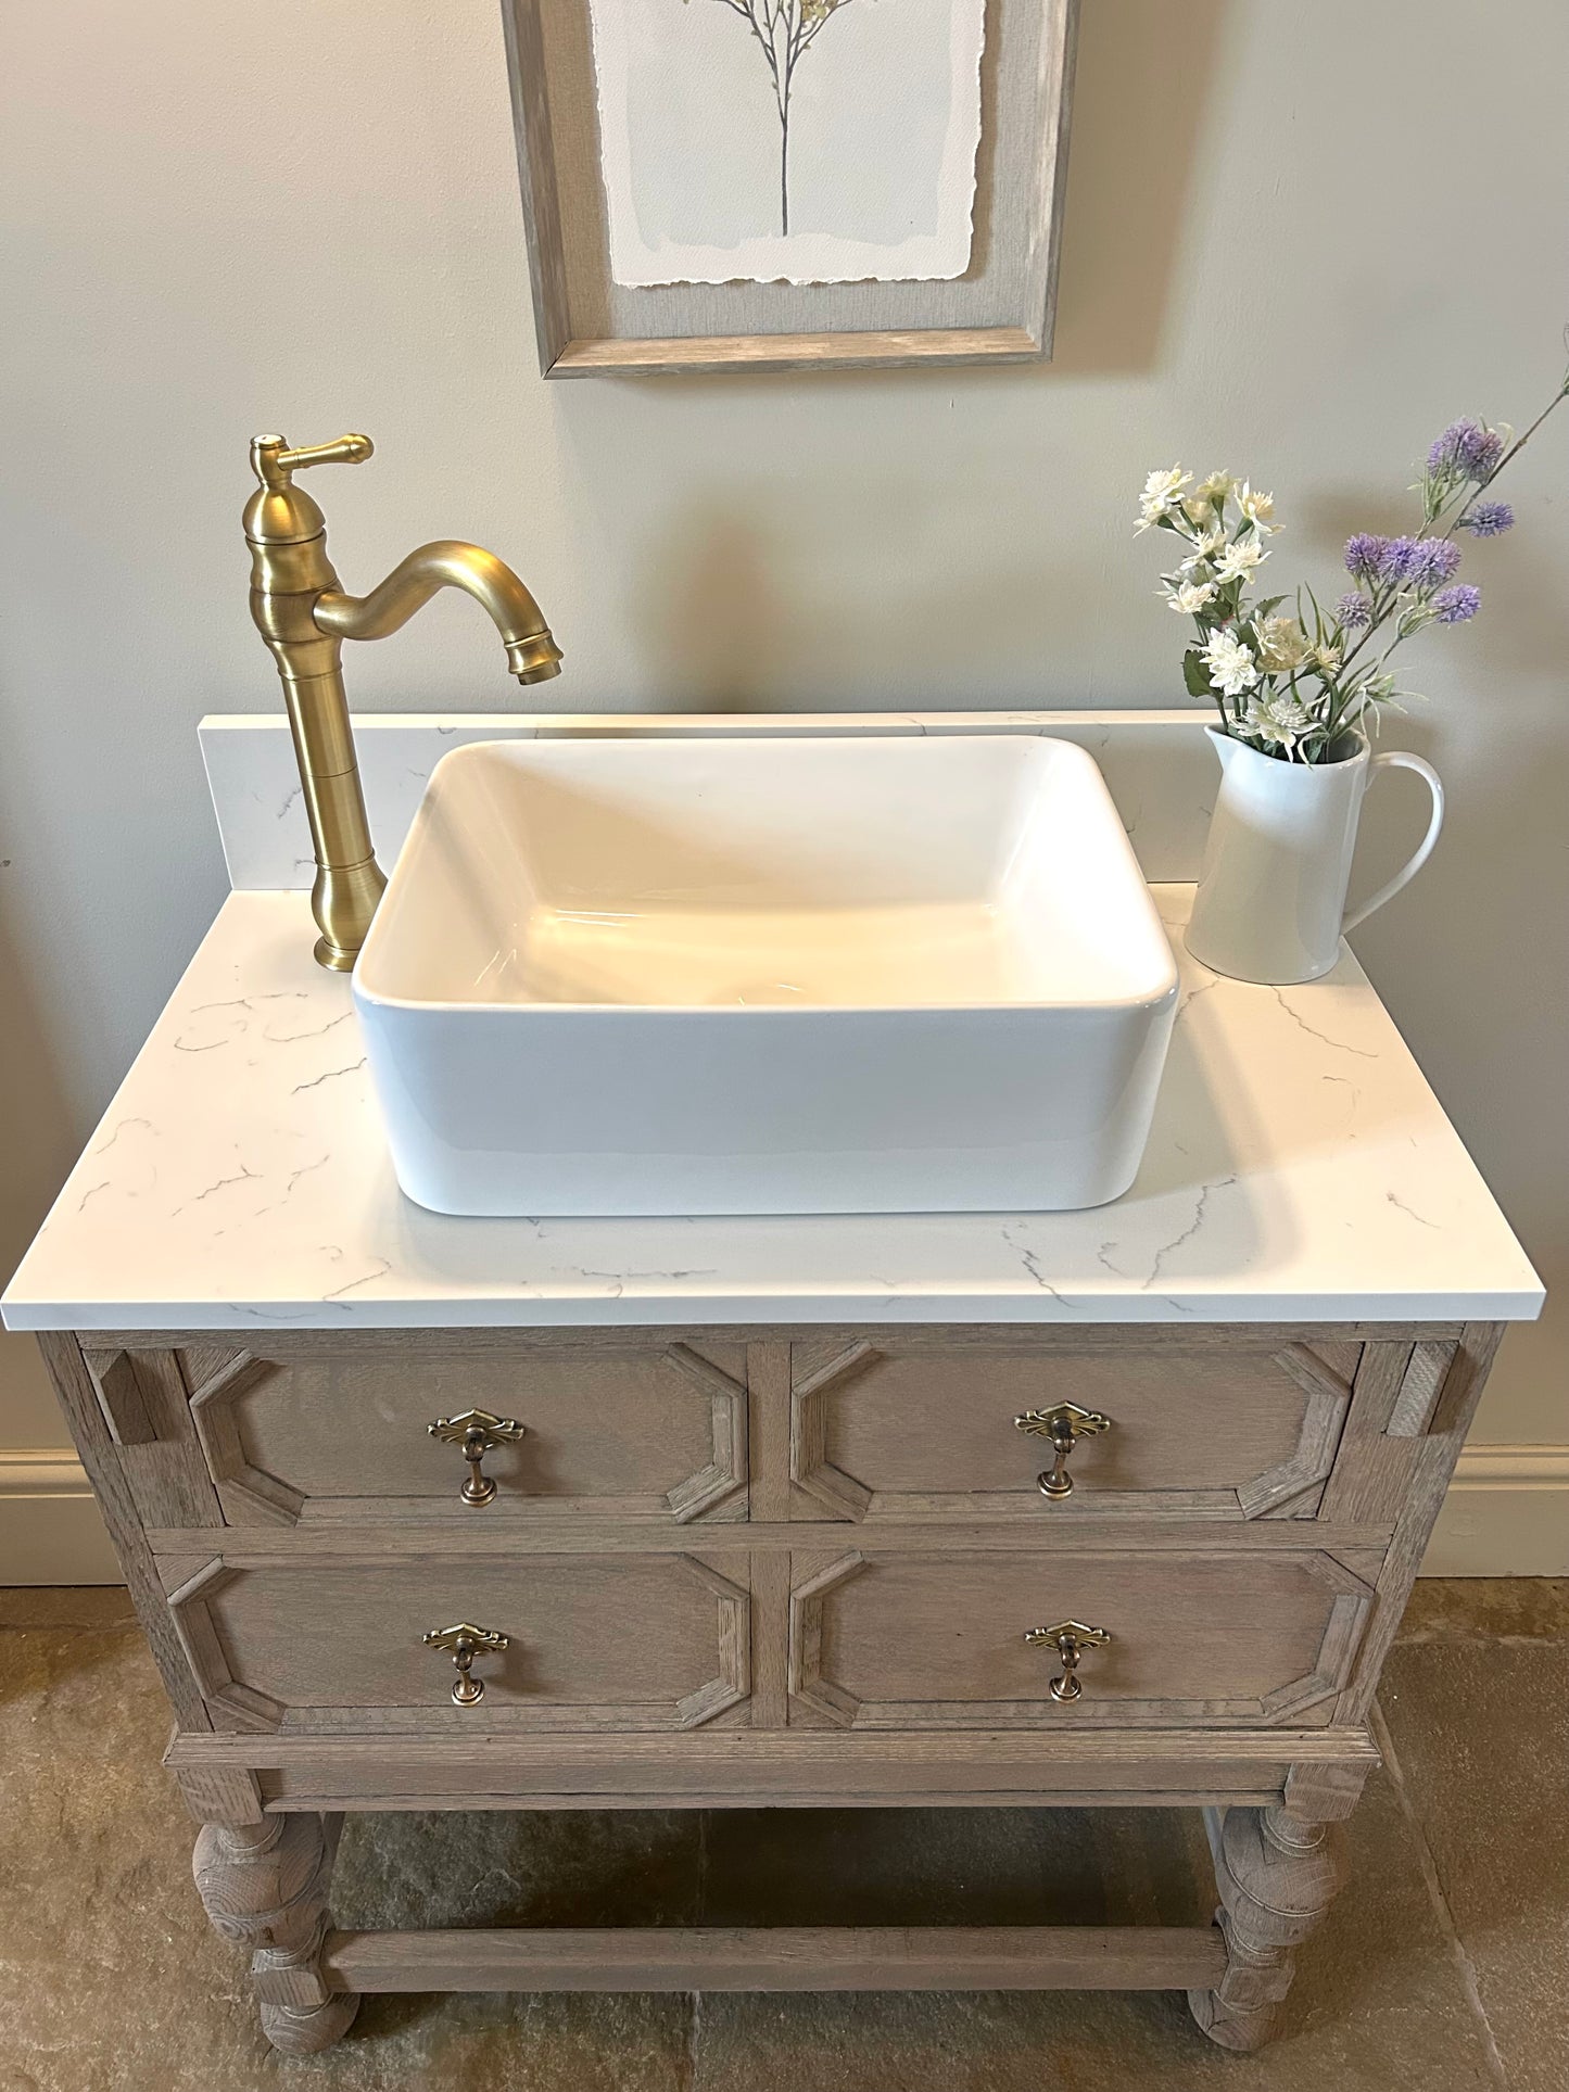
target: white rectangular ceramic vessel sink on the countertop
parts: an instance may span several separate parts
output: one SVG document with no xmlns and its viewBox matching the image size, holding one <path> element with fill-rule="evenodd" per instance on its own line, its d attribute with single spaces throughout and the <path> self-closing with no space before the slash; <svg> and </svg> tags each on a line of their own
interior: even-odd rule
<svg viewBox="0 0 1569 2092">
<path fill-rule="evenodd" d="M 1176 964 L 1067 741 L 496 741 L 354 1000 L 439 1213 L 1019 1211 L 1132 1184 Z"/>
</svg>

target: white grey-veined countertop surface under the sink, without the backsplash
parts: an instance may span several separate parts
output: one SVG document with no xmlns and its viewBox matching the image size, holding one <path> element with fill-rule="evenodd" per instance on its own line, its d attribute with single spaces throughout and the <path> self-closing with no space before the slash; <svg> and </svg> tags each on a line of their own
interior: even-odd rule
<svg viewBox="0 0 1569 2092">
<path fill-rule="evenodd" d="M 305 893 L 232 893 L 8 1293 L 10 1328 L 1523 1320 L 1542 1287 L 1347 954 L 1182 1008 L 1082 1213 L 454 1220 L 397 1190 Z"/>
</svg>

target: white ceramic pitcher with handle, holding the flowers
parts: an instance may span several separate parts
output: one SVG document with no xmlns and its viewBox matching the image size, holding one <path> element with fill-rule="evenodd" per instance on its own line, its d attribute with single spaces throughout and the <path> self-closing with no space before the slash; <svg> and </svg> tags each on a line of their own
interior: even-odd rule
<svg viewBox="0 0 1569 2092">
<path fill-rule="evenodd" d="M 1404 749 L 1372 755 L 1362 734 L 1331 764 L 1259 755 L 1220 728 L 1205 728 L 1220 757 L 1220 795 L 1209 822 L 1188 950 L 1238 981 L 1314 981 L 1341 954 L 1341 937 L 1420 872 L 1443 826 L 1443 784 L 1431 764 Z M 1362 797 L 1381 770 L 1414 770 L 1433 793 L 1420 847 L 1370 902 L 1345 912 Z"/>
</svg>

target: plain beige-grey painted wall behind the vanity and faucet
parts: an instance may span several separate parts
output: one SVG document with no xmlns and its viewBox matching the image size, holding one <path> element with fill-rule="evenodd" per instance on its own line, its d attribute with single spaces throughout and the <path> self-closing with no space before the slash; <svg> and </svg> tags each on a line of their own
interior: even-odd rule
<svg viewBox="0 0 1569 2092">
<path fill-rule="evenodd" d="M 676 4 L 676 0 L 672 0 Z M 1561 0 L 1084 0 L 1050 368 L 536 374 L 494 0 L 50 0 L 0 25 L 0 1266 L 220 895 L 195 722 L 276 703 L 247 439 L 368 429 L 318 492 L 349 588 L 508 554 L 584 709 L 1165 703 L 1153 464 L 1274 487 L 1335 586 L 1433 431 L 1523 420 L 1569 318 Z M 1358 937 L 1559 1297 L 1481 1435 L 1569 1446 L 1569 414 L 1469 567 L 1485 617 L 1395 734 L 1452 791 Z M 349 663 L 362 707 L 508 705 L 471 605 Z M 1420 787 L 1383 787 L 1368 858 Z M 0 1448 L 63 1437 L 0 1341 Z M 1569 1454 L 1565 1454 L 1569 1479 Z M 1569 1496 L 1561 1498 L 1569 1504 Z"/>
</svg>

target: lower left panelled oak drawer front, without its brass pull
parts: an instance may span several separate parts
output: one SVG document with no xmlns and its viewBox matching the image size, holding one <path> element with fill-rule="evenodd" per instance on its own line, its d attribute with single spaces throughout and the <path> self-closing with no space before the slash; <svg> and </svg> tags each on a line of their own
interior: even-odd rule
<svg viewBox="0 0 1569 2092">
<path fill-rule="evenodd" d="M 496 1734 L 699 1728 L 751 1690 L 745 1556 L 544 1554 L 230 1567 L 169 1598 L 226 1730 Z M 473 1705 L 425 1634 L 473 1625 Z"/>
</svg>

